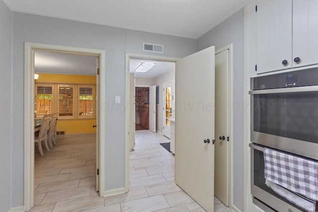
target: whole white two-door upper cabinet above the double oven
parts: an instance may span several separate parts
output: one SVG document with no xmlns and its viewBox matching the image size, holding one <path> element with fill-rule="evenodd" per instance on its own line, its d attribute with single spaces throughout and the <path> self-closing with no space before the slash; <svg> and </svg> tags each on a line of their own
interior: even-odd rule
<svg viewBox="0 0 318 212">
<path fill-rule="evenodd" d="M 257 74 L 318 64 L 318 0 L 256 5 Z"/>
</svg>

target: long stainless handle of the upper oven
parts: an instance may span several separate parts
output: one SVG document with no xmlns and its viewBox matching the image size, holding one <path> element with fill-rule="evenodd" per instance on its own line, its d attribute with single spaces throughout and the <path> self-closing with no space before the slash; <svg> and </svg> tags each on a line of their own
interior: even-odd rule
<svg viewBox="0 0 318 212">
<path fill-rule="evenodd" d="M 292 92 L 309 92 L 318 91 L 318 85 L 302 86 L 302 87 L 284 87 L 263 90 L 250 90 L 249 94 L 267 94 L 267 93 L 292 93 Z"/>
</svg>

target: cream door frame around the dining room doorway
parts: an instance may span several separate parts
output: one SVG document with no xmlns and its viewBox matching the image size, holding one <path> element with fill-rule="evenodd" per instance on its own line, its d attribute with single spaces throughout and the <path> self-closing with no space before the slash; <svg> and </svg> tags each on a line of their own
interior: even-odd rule
<svg viewBox="0 0 318 212">
<path fill-rule="evenodd" d="M 99 121 L 100 129 L 105 126 L 105 111 L 101 110 L 105 99 L 105 50 L 40 43 L 24 43 L 24 208 L 29 211 L 34 205 L 34 52 L 35 50 L 63 52 L 99 57 Z M 99 130 L 99 196 L 105 189 L 105 133 Z"/>
</svg>

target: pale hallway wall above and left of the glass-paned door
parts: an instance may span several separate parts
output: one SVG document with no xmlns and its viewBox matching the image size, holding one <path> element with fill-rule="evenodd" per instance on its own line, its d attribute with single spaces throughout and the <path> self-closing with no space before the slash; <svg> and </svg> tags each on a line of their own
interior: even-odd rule
<svg viewBox="0 0 318 212">
<path fill-rule="evenodd" d="M 162 132 L 163 127 L 163 83 L 171 80 L 175 80 L 175 70 L 169 71 L 155 78 L 155 84 L 159 85 L 159 104 L 157 104 L 156 128 L 160 132 Z"/>
</svg>

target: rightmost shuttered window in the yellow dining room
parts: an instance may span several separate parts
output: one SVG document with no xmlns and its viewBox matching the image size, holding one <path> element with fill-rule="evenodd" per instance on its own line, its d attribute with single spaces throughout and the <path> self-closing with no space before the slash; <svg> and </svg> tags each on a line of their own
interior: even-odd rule
<svg viewBox="0 0 318 212">
<path fill-rule="evenodd" d="M 93 111 L 93 87 L 79 85 L 79 118 L 92 118 Z"/>
</svg>

